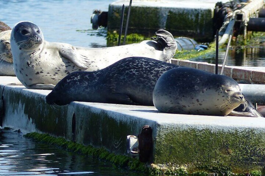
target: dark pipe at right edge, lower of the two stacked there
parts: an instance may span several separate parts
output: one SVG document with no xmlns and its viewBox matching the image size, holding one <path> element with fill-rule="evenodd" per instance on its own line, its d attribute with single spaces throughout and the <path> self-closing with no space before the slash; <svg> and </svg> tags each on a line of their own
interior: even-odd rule
<svg viewBox="0 0 265 176">
<path fill-rule="evenodd" d="M 265 32 L 265 18 L 249 18 L 247 31 Z"/>
</svg>

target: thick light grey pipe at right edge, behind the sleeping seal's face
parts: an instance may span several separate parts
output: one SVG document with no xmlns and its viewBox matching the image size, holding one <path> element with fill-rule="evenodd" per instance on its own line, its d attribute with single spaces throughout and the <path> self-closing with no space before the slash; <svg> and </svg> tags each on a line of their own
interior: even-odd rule
<svg viewBox="0 0 265 176">
<path fill-rule="evenodd" d="M 264 84 L 239 84 L 244 96 L 252 103 L 265 105 L 265 85 Z"/>
</svg>

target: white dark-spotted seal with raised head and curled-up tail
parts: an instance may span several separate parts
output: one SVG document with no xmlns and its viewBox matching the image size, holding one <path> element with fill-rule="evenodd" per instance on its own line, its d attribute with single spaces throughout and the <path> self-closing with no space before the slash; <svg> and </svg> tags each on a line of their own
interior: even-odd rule
<svg viewBox="0 0 265 176">
<path fill-rule="evenodd" d="M 17 78 L 26 88 L 53 89 L 75 71 L 96 71 L 129 56 L 168 61 L 177 49 L 173 36 L 156 32 L 156 41 L 105 48 L 75 47 L 44 40 L 41 29 L 32 22 L 17 23 L 11 33 L 11 51 Z"/>
</svg>

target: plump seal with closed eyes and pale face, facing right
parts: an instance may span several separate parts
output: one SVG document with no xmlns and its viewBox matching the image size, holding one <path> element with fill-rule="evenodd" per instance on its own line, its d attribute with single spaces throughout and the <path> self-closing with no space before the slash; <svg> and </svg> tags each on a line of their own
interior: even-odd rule
<svg viewBox="0 0 265 176">
<path fill-rule="evenodd" d="M 247 106 L 232 78 L 186 67 L 160 76 L 153 102 L 161 112 L 213 116 L 226 116 L 240 104 Z"/>
</svg>

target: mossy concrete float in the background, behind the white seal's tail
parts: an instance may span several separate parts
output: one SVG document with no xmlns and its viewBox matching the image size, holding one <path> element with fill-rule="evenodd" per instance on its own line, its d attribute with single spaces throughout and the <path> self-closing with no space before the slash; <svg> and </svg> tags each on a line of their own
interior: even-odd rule
<svg viewBox="0 0 265 176">
<path fill-rule="evenodd" d="M 109 31 L 119 31 L 123 4 L 125 27 L 129 2 L 129 0 L 118 0 L 109 5 Z M 158 29 L 166 29 L 174 36 L 188 36 L 204 42 L 212 41 L 212 17 L 216 2 L 216 0 L 133 0 L 128 32 L 145 32 L 146 35 L 153 36 Z"/>
</svg>

